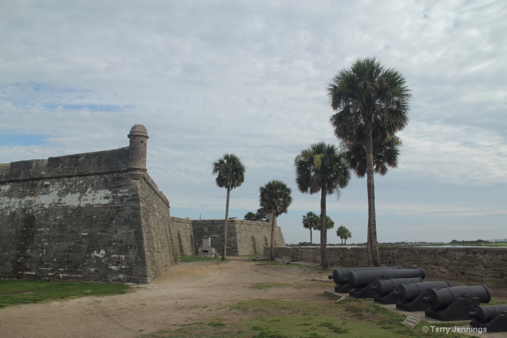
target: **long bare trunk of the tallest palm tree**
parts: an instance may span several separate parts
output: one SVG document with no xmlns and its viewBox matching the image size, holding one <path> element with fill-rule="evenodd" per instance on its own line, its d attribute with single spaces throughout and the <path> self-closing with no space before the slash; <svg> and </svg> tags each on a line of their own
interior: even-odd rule
<svg viewBox="0 0 507 338">
<path fill-rule="evenodd" d="M 372 131 L 366 136 L 366 184 L 368 190 L 368 265 L 380 267 L 380 253 L 377 243 L 375 221 L 375 184 L 373 180 L 373 137 Z"/>
</svg>

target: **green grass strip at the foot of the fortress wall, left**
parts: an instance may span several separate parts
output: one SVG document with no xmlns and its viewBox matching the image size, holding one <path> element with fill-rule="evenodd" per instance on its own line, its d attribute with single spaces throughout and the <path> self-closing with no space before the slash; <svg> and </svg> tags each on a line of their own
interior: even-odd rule
<svg viewBox="0 0 507 338">
<path fill-rule="evenodd" d="M 51 299 L 122 294 L 130 287 L 121 283 L 0 280 L 0 308 L 39 303 Z"/>
</svg>

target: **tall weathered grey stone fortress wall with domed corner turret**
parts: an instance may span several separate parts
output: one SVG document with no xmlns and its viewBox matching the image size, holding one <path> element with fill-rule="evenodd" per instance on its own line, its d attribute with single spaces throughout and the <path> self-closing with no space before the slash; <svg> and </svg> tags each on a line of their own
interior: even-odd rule
<svg viewBox="0 0 507 338">
<path fill-rule="evenodd" d="M 0 278 L 149 283 L 202 237 L 223 241 L 224 220 L 170 216 L 146 169 L 146 128 L 128 137 L 111 151 L 0 164 Z M 229 221 L 229 253 L 262 253 L 247 238 L 271 224 L 253 223 Z"/>
</svg>

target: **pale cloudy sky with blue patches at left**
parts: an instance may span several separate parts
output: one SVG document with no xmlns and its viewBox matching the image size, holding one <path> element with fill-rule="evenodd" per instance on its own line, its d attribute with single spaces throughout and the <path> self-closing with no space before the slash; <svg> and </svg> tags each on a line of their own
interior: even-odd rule
<svg viewBox="0 0 507 338">
<path fill-rule="evenodd" d="M 171 215 L 224 217 L 211 165 L 234 153 L 246 175 L 230 216 L 280 179 L 285 240 L 309 241 L 319 196 L 298 192 L 294 158 L 338 144 L 325 89 L 377 57 L 413 94 L 399 168 L 375 177 L 379 241 L 507 238 L 505 18 L 503 0 L 3 1 L 0 163 L 124 147 L 143 124 Z M 328 214 L 365 242 L 366 179 Z"/>
</svg>

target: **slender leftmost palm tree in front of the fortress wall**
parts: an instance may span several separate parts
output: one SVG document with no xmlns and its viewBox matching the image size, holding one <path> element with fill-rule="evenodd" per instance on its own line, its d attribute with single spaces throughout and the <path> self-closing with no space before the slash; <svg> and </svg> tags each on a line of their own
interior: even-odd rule
<svg viewBox="0 0 507 338">
<path fill-rule="evenodd" d="M 224 249 L 222 260 L 226 259 L 227 248 L 227 221 L 229 219 L 229 201 L 231 190 L 240 186 L 245 180 L 245 166 L 234 154 L 224 154 L 218 161 L 213 163 L 213 174 L 216 174 L 216 185 L 227 189 L 227 203 L 224 220 Z"/>
</svg>

